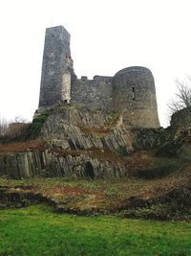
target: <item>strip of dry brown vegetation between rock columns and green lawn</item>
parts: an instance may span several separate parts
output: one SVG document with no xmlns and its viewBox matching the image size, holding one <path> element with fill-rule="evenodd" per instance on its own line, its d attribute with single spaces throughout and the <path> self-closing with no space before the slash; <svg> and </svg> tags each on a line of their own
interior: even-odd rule
<svg viewBox="0 0 191 256">
<path fill-rule="evenodd" d="M 135 163 L 138 161 L 138 154 L 136 157 Z M 152 170 L 152 166 L 161 165 L 165 160 L 156 158 L 157 162 L 155 162 L 151 156 L 144 155 L 144 157 L 148 173 Z M 140 159 L 143 161 L 143 156 Z M 141 166 L 144 171 L 145 166 Z M 119 214 L 126 217 L 158 220 L 190 220 L 191 213 L 188 207 L 191 198 L 190 166 L 190 161 L 184 161 L 169 175 L 155 178 L 148 176 L 138 178 L 135 170 L 129 178 L 115 180 L 1 178 L 0 186 L 7 187 L 11 193 L 26 194 L 28 192 L 32 195 L 41 195 L 45 201 L 53 204 L 58 212 L 79 215 Z M 30 198 L 28 200 L 30 201 Z M 24 204 L 28 200 L 25 199 Z M 12 203 L 15 206 L 14 202 Z M 17 203 L 23 205 L 23 202 L 17 201 Z"/>
</svg>

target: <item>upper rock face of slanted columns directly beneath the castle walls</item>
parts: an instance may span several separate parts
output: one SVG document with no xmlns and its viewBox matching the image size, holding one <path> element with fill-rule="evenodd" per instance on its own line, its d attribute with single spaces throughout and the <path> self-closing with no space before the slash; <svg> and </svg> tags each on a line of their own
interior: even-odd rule
<svg viewBox="0 0 191 256">
<path fill-rule="evenodd" d="M 120 116 L 85 107 L 54 107 L 41 133 L 43 138 L 60 140 L 64 150 L 133 150 L 130 129 L 121 125 Z"/>
</svg>

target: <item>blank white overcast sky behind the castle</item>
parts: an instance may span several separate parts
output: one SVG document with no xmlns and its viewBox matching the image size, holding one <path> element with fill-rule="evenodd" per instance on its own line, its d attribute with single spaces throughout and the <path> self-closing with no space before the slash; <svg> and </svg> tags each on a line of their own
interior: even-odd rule
<svg viewBox="0 0 191 256">
<path fill-rule="evenodd" d="M 190 0 L 1 0 L 0 116 L 32 120 L 38 106 L 45 29 L 71 34 L 78 78 L 151 69 L 161 126 L 175 80 L 191 74 Z"/>
</svg>

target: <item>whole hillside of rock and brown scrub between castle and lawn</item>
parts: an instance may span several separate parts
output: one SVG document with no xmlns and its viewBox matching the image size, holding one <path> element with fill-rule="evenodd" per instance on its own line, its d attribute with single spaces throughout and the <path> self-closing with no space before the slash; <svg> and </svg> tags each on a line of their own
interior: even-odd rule
<svg viewBox="0 0 191 256">
<path fill-rule="evenodd" d="M 0 146 L 1 208 L 46 201 L 80 215 L 190 219 L 191 133 L 179 115 L 166 129 L 123 127 L 117 114 L 73 105 L 44 117 L 27 141 Z"/>
</svg>

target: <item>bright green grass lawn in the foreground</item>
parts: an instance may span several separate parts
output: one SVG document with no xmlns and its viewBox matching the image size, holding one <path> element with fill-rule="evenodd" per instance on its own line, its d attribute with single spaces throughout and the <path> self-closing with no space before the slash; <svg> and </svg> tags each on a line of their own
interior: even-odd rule
<svg viewBox="0 0 191 256">
<path fill-rule="evenodd" d="M 191 255 L 191 223 L 1 210 L 0 255 Z"/>
</svg>

